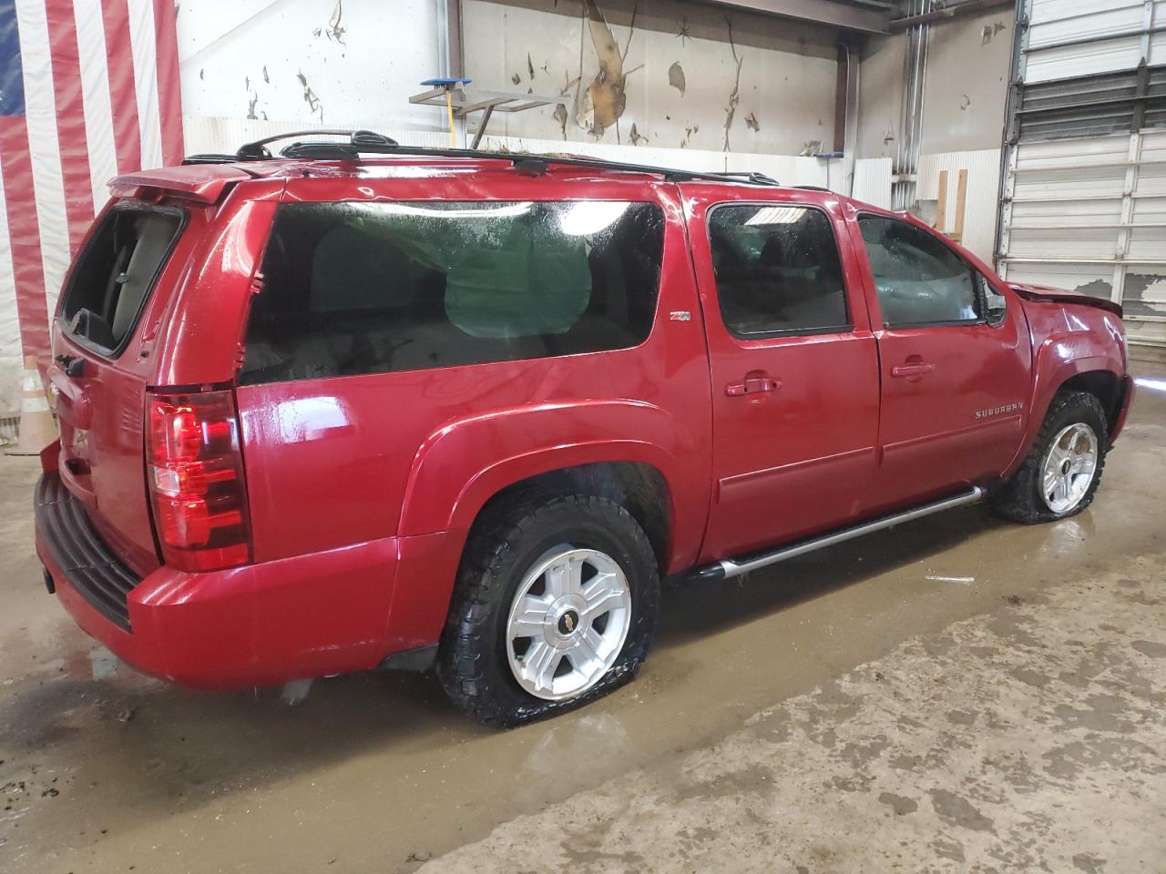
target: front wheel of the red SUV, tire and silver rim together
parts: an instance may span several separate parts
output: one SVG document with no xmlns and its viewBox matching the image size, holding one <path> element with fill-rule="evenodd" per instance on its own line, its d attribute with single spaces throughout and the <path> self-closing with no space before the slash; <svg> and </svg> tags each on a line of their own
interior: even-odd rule
<svg viewBox="0 0 1166 874">
<path fill-rule="evenodd" d="M 1059 392 L 1024 464 L 991 496 L 992 512 L 1023 524 L 1075 516 L 1093 503 L 1108 446 L 1101 401 L 1088 392 Z"/>
</svg>

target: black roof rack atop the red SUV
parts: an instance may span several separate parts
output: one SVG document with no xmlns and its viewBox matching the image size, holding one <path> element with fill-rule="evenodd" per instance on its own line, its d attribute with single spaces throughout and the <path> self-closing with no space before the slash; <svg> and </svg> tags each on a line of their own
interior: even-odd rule
<svg viewBox="0 0 1166 874">
<path fill-rule="evenodd" d="M 564 167 L 586 167 L 597 170 L 616 170 L 623 172 L 644 172 L 663 176 L 669 182 L 704 179 L 707 182 L 745 182 L 753 185 L 780 185 L 765 174 L 751 171 L 701 172 L 682 170 L 672 167 L 654 167 L 651 164 L 632 164 L 621 161 L 605 161 L 598 157 L 578 155 L 535 155 L 517 151 L 480 151 L 478 149 L 431 148 L 428 146 L 402 146 L 396 140 L 372 131 L 292 131 L 286 134 L 265 136 L 262 140 L 244 143 L 234 155 L 191 155 L 183 163 L 233 163 L 246 161 L 273 161 L 276 156 L 267 147 L 279 140 L 292 140 L 310 135 L 347 136 L 347 142 L 293 142 L 280 149 L 280 157 L 307 158 L 315 161 L 359 161 L 361 154 L 377 155 L 416 155 L 421 157 L 468 157 L 510 161 L 515 169 L 533 176 L 547 171 L 549 164 Z"/>
</svg>

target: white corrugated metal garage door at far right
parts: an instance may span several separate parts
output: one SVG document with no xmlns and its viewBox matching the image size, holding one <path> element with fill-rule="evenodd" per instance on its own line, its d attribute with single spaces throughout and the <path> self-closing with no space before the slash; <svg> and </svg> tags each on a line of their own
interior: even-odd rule
<svg viewBox="0 0 1166 874">
<path fill-rule="evenodd" d="M 999 269 L 1121 301 L 1166 347 L 1166 0 L 1020 7 Z"/>
</svg>

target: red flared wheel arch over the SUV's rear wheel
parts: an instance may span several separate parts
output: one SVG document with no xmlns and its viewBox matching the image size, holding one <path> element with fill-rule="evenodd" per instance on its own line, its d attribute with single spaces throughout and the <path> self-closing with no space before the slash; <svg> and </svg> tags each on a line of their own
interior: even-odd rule
<svg viewBox="0 0 1166 874">
<path fill-rule="evenodd" d="M 639 401 L 543 404 L 462 420 L 419 450 L 399 534 L 464 533 L 492 501 L 522 489 L 570 488 L 626 506 L 667 573 L 695 561 L 703 535 L 710 480 L 697 445 L 674 416 Z"/>
</svg>

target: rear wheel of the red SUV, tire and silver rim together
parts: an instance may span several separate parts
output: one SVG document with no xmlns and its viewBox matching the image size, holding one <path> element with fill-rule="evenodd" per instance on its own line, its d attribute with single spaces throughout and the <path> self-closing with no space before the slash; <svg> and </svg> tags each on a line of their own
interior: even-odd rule
<svg viewBox="0 0 1166 874">
<path fill-rule="evenodd" d="M 652 545 L 618 503 L 568 494 L 489 509 L 462 558 L 437 672 L 489 725 L 570 710 L 635 676 L 659 601 Z"/>
</svg>

